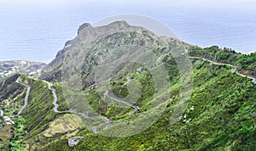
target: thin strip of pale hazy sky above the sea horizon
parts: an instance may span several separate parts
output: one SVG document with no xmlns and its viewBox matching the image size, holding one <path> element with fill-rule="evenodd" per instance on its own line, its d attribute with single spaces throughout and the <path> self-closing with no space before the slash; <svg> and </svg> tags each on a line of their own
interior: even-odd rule
<svg viewBox="0 0 256 151">
<path fill-rule="evenodd" d="M 154 6 L 154 7 L 173 7 L 173 6 L 215 6 L 215 7 L 255 7 L 255 0 L 1 0 L 2 6 L 47 6 L 65 7 L 76 4 L 96 5 L 128 5 L 128 6 Z"/>
</svg>

